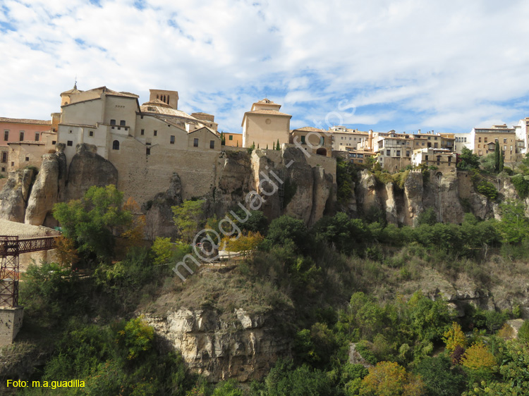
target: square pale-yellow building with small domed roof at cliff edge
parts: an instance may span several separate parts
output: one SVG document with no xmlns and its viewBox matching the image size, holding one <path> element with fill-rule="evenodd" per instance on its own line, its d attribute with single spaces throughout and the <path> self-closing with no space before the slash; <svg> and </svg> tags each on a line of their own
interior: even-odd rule
<svg viewBox="0 0 529 396">
<path fill-rule="evenodd" d="M 290 139 L 290 119 L 291 115 L 281 113 L 280 104 L 276 104 L 269 99 L 262 99 L 252 105 L 250 111 L 246 111 L 243 116 L 243 147 L 271 149 L 279 141 L 279 144 L 288 143 Z"/>
</svg>

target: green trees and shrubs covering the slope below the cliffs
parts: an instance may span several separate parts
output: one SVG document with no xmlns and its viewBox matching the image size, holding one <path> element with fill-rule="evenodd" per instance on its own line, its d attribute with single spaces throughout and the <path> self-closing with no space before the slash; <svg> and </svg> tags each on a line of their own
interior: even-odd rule
<svg viewBox="0 0 529 396">
<path fill-rule="evenodd" d="M 189 228 L 186 240 L 204 223 L 218 231 L 218 219 L 204 218 L 195 206 L 187 206 L 194 216 L 182 225 Z M 466 214 L 461 225 L 436 223 L 425 211 L 416 228 L 339 213 L 310 229 L 289 216 L 267 225 L 255 212 L 239 223 L 246 235 L 264 236 L 255 254 L 181 283 L 171 268 L 190 246 L 124 243 L 115 235 L 138 225 L 132 211 L 115 190 L 91 189 L 82 201 L 56 206 L 69 238 L 63 257 L 74 254 L 77 264 L 31 266 L 20 292 L 20 339 L 38 340 L 48 353 L 23 379 L 78 378 L 86 387 L 21 394 L 525 395 L 529 325 L 512 339 L 505 323 L 521 315 L 529 220 L 516 202 L 501 211 L 501 221 Z M 447 304 L 449 286 L 461 280 L 478 291 L 498 290 L 496 298 L 508 285 L 505 309 L 475 304 L 461 312 Z M 226 318 L 240 308 L 274 312 L 285 318 L 281 329 L 292 340 L 293 358 L 280 359 L 262 382 L 246 387 L 208 384 L 135 314 L 169 303 Z"/>
</svg>

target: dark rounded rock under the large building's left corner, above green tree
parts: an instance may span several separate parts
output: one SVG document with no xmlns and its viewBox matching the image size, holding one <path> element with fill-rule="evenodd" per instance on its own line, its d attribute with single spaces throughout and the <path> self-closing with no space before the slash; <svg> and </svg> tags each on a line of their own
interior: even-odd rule
<svg viewBox="0 0 529 396">
<path fill-rule="evenodd" d="M 96 151 L 97 147 L 92 144 L 78 144 L 77 154 L 73 156 L 68 169 L 68 186 L 64 197 L 66 202 L 82 198 L 92 185 L 104 187 L 118 182 L 116 167 Z"/>
</svg>

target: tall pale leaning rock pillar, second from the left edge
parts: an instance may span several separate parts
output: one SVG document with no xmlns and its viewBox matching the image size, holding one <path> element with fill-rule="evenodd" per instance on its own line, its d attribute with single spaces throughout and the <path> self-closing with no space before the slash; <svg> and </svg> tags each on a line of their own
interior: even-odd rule
<svg viewBox="0 0 529 396">
<path fill-rule="evenodd" d="M 66 156 L 63 152 L 44 154 L 37 180 L 31 190 L 25 223 L 42 225 L 46 216 L 59 202 L 66 179 Z"/>
</svg>

